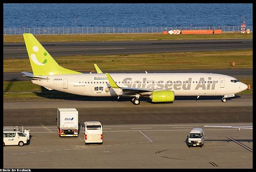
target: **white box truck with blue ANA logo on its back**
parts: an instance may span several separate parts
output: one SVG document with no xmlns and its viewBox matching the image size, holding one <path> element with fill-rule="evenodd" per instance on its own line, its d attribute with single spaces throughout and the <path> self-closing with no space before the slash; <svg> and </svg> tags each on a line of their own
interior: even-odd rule
<svg viewBox="0 0 256 172">
<path fill-rule="evenodd" d="M 75 108 L 58 108 L 58 135 L 78 136 L 78 111 Z"/>
</svg>

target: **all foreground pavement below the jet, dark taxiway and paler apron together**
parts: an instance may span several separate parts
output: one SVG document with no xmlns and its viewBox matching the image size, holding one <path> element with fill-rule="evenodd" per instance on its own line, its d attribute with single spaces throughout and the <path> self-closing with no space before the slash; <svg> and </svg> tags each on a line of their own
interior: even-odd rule
<svg viewBox="0 0 256 172">
<path fill-rule="evenodd" d="M 206 128 L 252 125 L 252 95 L 175 97 L 174 103 L 84 97 L 81 100 L 4 102 L 4 126 L 24 126 L 29 145 L 5 146 L 4 168 L 252 168 L 253 131 Z M 57 108 L 79 111 L 78 138 L 59 138 Z M 99 120 L 103 144 L 85 145 L 81 124 Z M 233 124 L 231 124 L 233 123 Z M 203 128 L 203 148 L 187 146 L 192 128 Z"/>
</svg>

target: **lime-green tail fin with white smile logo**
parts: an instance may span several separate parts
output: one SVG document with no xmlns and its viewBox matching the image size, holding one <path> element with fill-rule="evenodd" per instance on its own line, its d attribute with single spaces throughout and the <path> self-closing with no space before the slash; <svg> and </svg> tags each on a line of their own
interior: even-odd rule
<svg viewBox="0 0 256 172">
<path fill-rule="evenodd" d="M 58 65 L 33 34 L 23 34 L 34 75 L 81 74 Z"/>
</svg>

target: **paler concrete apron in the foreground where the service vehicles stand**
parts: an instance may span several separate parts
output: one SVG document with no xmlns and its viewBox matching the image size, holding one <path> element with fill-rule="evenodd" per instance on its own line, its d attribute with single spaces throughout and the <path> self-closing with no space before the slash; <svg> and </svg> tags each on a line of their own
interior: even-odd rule
<svg viewBox="0 0 256 172">
<path fill-rule="evenodd" d="M 206 138 L 202 148 L 187 146 L 187 135 L 193 128 L 204 129 Z M 4 168 L 253 167 L 251 129 L 206 128 L 197 123 L 104 125 L 102 145 L 85 145 L 81 130 L 78 138 L 59 138 L 56 126 L 25 129 L 30 129 L 29 145 L 5 146 Z"/>
</svg>

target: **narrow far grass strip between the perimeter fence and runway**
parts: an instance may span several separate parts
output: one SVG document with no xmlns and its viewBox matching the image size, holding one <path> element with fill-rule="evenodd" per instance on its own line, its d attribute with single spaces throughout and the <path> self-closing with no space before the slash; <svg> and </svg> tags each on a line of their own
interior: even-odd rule
<svg viewBox="0 0 256 172">
<path fill-rule="evenodd" d="M 132 40 L 194 40 L 194 39 L 252 39 L 253 34 L 58 34 L 35 35 L 40 42 L 69 41 L 132 41 Z M 24 42 L 23 35 L 3 35 L 4 43 Z"/>
</svg>

